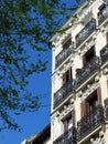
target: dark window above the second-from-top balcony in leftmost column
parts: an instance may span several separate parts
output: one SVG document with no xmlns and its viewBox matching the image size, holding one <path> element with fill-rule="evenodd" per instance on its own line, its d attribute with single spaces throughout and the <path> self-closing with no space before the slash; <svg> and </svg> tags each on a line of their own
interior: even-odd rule
<svg viewBox="0 0 108 144">
<path fill-rule="evenodd" d="M 68 82 L 72 79 L 72 68 L 69 68 L 64 74 L 63 74 L 63 84 Z"/>
</svg>

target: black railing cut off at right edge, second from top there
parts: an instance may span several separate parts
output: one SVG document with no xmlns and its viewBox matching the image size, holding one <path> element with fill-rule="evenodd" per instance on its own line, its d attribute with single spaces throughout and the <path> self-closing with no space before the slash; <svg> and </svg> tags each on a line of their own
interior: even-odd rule
<svg viewBox="0 0 108 144">
<path fill-rule="evenodd" d="M 101 64 L 105 64 L 108 61 L 108 44 L 102 48 L 100 51 Z"/>
</svg>

